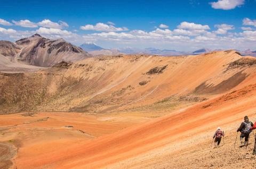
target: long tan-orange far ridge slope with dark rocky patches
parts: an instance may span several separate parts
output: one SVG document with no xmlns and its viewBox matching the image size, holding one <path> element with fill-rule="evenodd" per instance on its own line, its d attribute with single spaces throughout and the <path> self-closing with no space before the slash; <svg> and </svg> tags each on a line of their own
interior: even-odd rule
<svg viewBox="0 0 256 169">
<path fill-rule="evenodd" d="M 103 56 L 34 73 L 0 73 L 0 113 L 162 111 L 254 84 L 255 68 L 255 58 L 228 50 L 178 57 Z"/>
</svg>

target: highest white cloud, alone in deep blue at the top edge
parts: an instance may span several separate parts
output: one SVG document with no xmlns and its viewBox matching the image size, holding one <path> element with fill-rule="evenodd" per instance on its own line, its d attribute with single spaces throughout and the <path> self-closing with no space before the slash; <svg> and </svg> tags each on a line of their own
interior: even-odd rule
<svg viewBox="0 0 256 169">
<path fill-rule="evenodd" d="M 213 9 L 231 10 L 235 7 L 239 7 L 244 4 L 244 0 L 219 0 L 217 2 L 211 2 Z"/>
</svg>

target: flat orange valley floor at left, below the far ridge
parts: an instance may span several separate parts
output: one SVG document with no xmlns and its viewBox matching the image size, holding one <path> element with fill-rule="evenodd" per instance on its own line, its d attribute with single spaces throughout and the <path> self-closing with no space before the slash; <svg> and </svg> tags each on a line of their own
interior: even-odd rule
<svg viewBox="0 0 256 169">
<path fill-rule="evenodd" d="M 63 112 L 1 115 L 0 168 L 11 164 L 10 158 L 17 153 L 15 147 L 18 148 L 18 156 L 24 154 L 30 159 L 38 154 L 47 154 L 54 149 L 84 143 L 127 126 L 148 121 L 151 114 L 148 116 L 131 113 L 90 115 Z"/>
</svg>

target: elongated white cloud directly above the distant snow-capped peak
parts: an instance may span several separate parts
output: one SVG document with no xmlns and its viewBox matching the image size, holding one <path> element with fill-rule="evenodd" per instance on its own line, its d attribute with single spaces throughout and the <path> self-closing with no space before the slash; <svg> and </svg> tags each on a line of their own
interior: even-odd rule
<svg viewBox="0 0 256 169">
<path fill-rule="evenodd" d="M 95 26 L 92 24 L 86 24 L 85 26 L 81 26 L 80 29 L 82 30 L 95 30 L 95 31 L 103 31 L 103 32 L 116 32 L 116 31 L 126 31 L 128 30 L 127 28 L 117 28 L 114 27 L 113 25 L 108 25 L 105 23 L 97 23 Z"/>
</svg>

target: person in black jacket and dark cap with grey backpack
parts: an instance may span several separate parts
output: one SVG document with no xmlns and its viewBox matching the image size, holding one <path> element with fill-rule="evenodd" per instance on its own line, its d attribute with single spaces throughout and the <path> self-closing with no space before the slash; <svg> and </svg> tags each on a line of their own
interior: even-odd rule
<svg viewBox="0 0 256 169">
<path fill-rule="evenodd" d="M 244 116 L 244 122 L 241 123 L 240 127 L 237 129 L 236 132 L 240 131 L 240 147 L 246 146 L 248 143 L 248 138 L 250 136 L 251 130 L 250 128 L 253 126 L 253 123 L 249 121 L 248 116 Z M 243 138 L 245 138 L 243 142 Z"/>
</svg>

